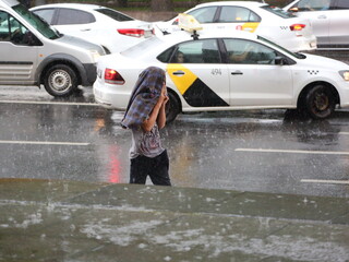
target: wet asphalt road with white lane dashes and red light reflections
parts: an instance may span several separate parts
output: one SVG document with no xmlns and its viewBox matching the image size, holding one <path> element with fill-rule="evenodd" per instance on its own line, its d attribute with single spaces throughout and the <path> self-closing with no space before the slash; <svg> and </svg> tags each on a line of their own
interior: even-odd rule
<svg viewBox="0 0 349 262">
<path fill-rule="evenodd" d="M 129 181 L 131 133 L 92 88 L 57 99 L 0 86 L 0 178 Z M 182 115 L 163 138 L 178 187 L 349 196 L 349 110 L 324 121 L 286 110 Z"/>
</svg>

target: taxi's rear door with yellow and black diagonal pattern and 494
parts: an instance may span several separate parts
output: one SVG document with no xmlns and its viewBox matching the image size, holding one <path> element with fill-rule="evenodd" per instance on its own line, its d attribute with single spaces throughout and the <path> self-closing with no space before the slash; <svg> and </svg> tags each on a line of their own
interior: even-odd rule
<svg viewBox="0 0 349 262">
<path fill-rule="evenodd" d="M 221 63 L 216 39 L 178 45 L 167 72 L 190 107 L 229 106 L 228 71 Z"/>
</svg>

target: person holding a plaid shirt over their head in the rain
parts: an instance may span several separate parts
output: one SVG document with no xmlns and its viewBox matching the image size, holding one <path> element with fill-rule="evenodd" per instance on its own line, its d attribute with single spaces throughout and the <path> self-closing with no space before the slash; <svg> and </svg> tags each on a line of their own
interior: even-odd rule
<svg viewBox="0 0 349 262">
<path fill-rule="evenodd" d="M 166 124 L 166 75 L 149 67 L 139 76 L 121 126 L 132 130 L 130 183 L 145 184 L 147 176 L 158 186 L 171 186 L 167 151 L 161 146 L 159 129 Z"/>
</svg>

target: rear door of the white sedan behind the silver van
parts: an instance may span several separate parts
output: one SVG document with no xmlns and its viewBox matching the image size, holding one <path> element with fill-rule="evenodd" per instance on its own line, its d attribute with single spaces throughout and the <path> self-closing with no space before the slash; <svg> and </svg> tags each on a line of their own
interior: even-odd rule
<svg viewBox="0 0 349 262">
<path fill-rule="evenodd" d="M 83 10 L 58 9 L 52 25 L 63 34 L 73 35 L 86 40 L 95 39 L 98 33 L 96 31 L 95 16 Z"/>
</svg>

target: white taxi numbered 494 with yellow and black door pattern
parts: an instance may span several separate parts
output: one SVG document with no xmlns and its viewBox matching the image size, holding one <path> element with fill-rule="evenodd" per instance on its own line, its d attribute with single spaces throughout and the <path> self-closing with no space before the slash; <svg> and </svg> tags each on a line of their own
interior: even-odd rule
<svg viewBox="0 0 349 262">
<path fill-rule="evenodd" d="M 146 50 L 146 51 L 145 51 Z M 312 118 L 349 107 L 349 66 L 293 53 L 245 32 L 154 37 L 97 63 L 95 99 L 124 110 L 142 70 L 167 72 L 168 120 L 179 112 L 289 108 Z"/>
</svg>

